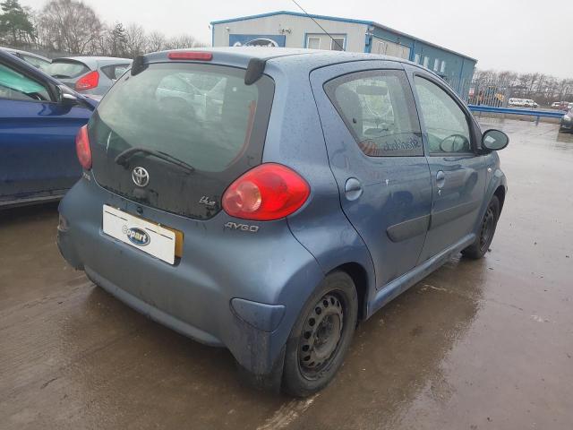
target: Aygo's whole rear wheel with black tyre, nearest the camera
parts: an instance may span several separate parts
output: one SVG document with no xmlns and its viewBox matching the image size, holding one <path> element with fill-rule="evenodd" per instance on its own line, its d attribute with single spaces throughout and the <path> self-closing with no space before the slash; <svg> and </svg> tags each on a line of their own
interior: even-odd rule
<svg viewBox="0 0 573 430">
<path fill-rule="evenodd" d="M 355 283 L 329 273 L 306 301 L 286 341 L 283 391 L 306 397 L 326 387 L 342 365 L 358 317 Z"/>
</svg>

